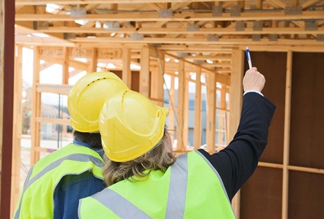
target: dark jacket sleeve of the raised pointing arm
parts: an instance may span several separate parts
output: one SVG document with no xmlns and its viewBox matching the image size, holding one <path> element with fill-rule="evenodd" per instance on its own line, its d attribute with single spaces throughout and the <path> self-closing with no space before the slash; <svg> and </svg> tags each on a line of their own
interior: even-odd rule
<svg viewBox="0 0 324 219">
<path fill-rule="evenodd" d="M 255 171 L 268 142 L 274 112 L 275 106 L 268 99 L 249 92 L 243 97 L 239 128 L 228 147 L 212 155 L 199 149 L 219 172 L 230 200 Z"/>
</svg>

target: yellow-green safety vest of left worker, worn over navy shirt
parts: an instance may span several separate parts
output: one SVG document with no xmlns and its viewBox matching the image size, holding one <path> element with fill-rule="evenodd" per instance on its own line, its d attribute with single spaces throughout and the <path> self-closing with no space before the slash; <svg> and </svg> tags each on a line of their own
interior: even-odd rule
<svg viewBox="0 0 324 219">
<path fill-rule="evenodd" d="M 89 170 L 103 179 L 102 167 L 97 152 L 74 144 L 45 156 L 29 170 L 14 218 L 53 218 L 53 194 L 62 177 Z"/>
</svg>

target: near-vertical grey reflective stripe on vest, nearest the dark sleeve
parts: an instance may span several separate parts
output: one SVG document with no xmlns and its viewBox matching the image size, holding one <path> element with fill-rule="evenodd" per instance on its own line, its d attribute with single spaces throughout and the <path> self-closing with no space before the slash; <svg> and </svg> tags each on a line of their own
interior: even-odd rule
<svg viewBox="0 0 324 219">
<path fill-rule="evenodd" d="M 171 165 L 169 196 L 165 218 L 183 218 L 185 213 L 188 180 L 188 154 L 178 156 Z"/>
</svg>

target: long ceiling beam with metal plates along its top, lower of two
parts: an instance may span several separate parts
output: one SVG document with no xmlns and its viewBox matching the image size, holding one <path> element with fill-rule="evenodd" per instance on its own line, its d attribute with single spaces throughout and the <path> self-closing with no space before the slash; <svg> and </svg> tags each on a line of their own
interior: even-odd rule
<svg viewBox="0 0 324 219">
<path fill-rule="evenodd" d="M 237 31 L 235 28 L 201 28 L 196 31 L 187 31 L 185 28 L 121 28 L 118 31 L 110 31 L 94 27 L 68 27 L 56 26 L 48 29 L 38 29 L 43 33 L 142 33 L 142 34 L 230 34 L 230 35 L 251 35 L 251 34 L 323 34 L 324 27 L 317 30 L 305 30 L 300 27 L 264 28 L 262 31 L 254 31 L 253 28 L 246 28 L 244 31 Z M 36 31 L 35 31 L 36 32 Z"/>
</svg>

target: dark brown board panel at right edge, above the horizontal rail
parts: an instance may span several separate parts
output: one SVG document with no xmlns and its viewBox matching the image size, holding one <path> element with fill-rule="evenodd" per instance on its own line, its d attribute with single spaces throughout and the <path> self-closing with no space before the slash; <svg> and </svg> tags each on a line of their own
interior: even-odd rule
<svg viewBox="0 0 324 219">
<path fill-rule="evenodd" d="M 293 53 L 290 164 L 324 168 L 324 53 Z"/>
</svg>

